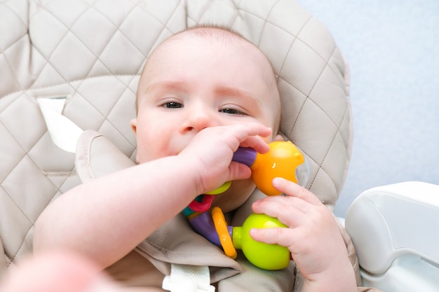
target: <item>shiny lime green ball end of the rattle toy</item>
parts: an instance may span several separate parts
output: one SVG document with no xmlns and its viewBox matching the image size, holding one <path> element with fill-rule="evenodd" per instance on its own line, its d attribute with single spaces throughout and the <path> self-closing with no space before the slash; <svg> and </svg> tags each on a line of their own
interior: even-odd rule
<svg viewBox="0 0 439 292">
<path fill-rule="evenodd" d="M 241 227 L 233 228 L 233 244 L 242 249 L 253 265 L 264 270 L 281 270 L 290 263 L 290 251 L 285 246 L 257 242 L 250 237 L 252 228 L 288 228 L 276 218 L 265 214 L 250 214 Z"/>
</svg>

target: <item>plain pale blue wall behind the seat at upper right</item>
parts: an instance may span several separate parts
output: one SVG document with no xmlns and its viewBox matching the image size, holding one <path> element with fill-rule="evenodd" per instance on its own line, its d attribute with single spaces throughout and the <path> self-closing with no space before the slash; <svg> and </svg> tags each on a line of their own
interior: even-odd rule
<svg viewBox="0 0 439 292">
<path fill-rule="evenodd" d="M 351 68 L 353 153 L 335 214 L 374 186 L 439 184 L 439 1 L 297 2 Z"/>
</svg>

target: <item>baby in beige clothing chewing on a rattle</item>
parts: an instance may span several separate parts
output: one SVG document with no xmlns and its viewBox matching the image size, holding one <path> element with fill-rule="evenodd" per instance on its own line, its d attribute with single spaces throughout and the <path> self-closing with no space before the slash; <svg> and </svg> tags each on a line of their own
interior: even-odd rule
<svg viewBox="0 0 439 292">
<path fill-rule="evenodd" d="M 250 169 L 231 160 L 234 152 L 243 146 L 266 153 L 267 143 L 282 139 L 276 78 L 256 46 L 221 27 L 175 34 L 148 58 L 136 106 L 138 164 L 50 204 L 35 225 L 36 253 L 74 251 L 144 291 L 161 291 L 170 263 L 209 266 L 218 291 L 357 291 L 334 216 L 295 183 L 273 179 L 285 195 L 252 204 L 289 227 L 250 232 L 288 247 L 293 260 L 283 270 L 227 258 L 180 214 L 197 195 L 233 181 L 212 207 L 234 216 L 255 190 Z"/>
</svg>

